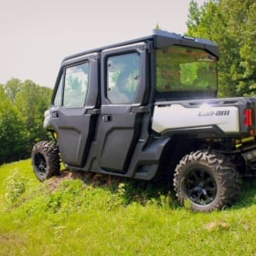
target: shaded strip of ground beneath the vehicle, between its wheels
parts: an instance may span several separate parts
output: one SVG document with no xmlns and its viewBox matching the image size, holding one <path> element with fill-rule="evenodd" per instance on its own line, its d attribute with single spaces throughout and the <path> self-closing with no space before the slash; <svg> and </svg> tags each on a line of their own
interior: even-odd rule
<svg viewBox="0 0 256 256">
<path fill-rule="evenodd" d="M 86 173 L 82 171 L 63 170 L 59 176 L 54 176 L 48 180 L 50 190 L 55 190 L 63 180 L 80 179 L 86 185 L 92 187 L 103 187 L 122 197 L 123 204 L 129 205 L 138 203 L 146 205 L 154 203 L 156 205 L 178 208 L 175 192 L 171 182 L 144 181 L 124 178 L 120 176 L 101 175 L 95 173 Z"/>
</svg>

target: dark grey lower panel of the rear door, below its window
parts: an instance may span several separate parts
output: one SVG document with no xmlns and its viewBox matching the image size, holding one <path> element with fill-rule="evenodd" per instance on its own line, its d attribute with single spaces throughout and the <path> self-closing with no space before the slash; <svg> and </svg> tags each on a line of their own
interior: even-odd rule
<svg viewBox="0 0 256 256">
<path fill-rule="evenodd" d="M 135 113 L 130 108 L 102 107 L 101 114 L 112 113 L 112 121 L 101 121 L 98 148 L 101 169 L 112 172 L 125 172 L 133 155 L 133 148 L 138 139 L 141 125 L 136 123 Z"/>
</svg>

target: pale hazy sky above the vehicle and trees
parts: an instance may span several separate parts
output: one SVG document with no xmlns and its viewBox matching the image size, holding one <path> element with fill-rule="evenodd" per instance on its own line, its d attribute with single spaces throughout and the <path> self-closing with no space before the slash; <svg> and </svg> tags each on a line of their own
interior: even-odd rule
<svg viewBox="0 0 256 256">
<path fill-rule="evenodd" d="M 53 88 L 66 56 L 150 35 L 157 23 L 185 34 L 189 2 L 0 0 L 0 83 L 16 78 Z"/>
</svg>

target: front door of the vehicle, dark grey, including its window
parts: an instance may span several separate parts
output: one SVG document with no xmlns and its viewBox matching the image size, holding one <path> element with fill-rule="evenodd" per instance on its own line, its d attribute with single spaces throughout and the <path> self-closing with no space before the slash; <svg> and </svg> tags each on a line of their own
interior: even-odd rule
<svg viewBox="0 0 256 256">
<path fill-rule="evenodd" d="M 67 165 L 83 166 L 90 150 L 99 114 L 98 56 L 67 60 L 59 73 L 51 115 L 60 156 Z"/>
</svg>

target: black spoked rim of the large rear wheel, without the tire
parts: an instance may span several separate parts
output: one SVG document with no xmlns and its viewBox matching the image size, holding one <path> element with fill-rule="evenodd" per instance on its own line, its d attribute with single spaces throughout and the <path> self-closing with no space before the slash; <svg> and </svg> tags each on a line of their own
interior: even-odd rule
<svg viewBox="0 0 256 256">
<path fill-rule="evenodd" d="M 190 170 L 185 181 L 185 189 L 189 199 L 197 205 L 208 205 L 217 194 L 215 179 L 204 168 Z"/>
</svg>

